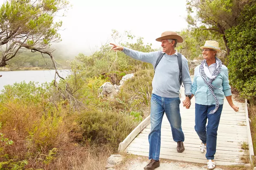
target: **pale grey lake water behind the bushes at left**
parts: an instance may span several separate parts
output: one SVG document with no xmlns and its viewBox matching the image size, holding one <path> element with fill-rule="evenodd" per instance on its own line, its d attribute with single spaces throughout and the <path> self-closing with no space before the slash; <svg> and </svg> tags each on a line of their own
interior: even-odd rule
<svg viewBox="0 0 256 170">
<path fill-rule="evenodd" d="M 70 74 L 69 70 L 58 70 L 61 77 L 65 78 Z M 13 83 L 20 83 L 30 81 L 41 83 L 52 82 L 54 80 L 55 70 L 26 70 L 26 71 L 0 71 L 0 91 L 4 89 L 4 85 L 13 85 Z M 59 81 L 59 78 L 57 79 Z"/>
</svg>

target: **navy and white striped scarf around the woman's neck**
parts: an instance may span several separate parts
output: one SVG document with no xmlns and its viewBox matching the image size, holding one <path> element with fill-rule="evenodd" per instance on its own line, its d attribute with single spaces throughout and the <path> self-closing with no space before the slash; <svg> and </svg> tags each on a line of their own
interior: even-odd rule
<svg viewBox="0 0 256 170">
<path fill-rule="evenodd" d="M 217 75 L 219 75 L 219 73 L 221 72 L 222 63 L 221 63 L 221 60 L 219 60 L 219 58 L 215 57 L 215 59 L 216 59 L 216 65 L 215 65 L 213 74 L 210 74 L 209 66 L 206 63 L 206 60 L 203 60 L 201 62 L 200 69 L 199 69 L 200 75 L 204 79 L 204 83 L 206 83 L 206 85 L 208 85 L 208 89 L 212 93 L 214 101 L 215 101 L 215 108 L 213 110 L 211 110 L 209 114 L 215 113 L 219 108 L 219 100 L 215 96 L 214 91 L 213 91 L 214 89 L 219 89 L 219 88 L 216 87 L 215 85 L 212 85 L 212 82 L 215 80 Z"/>
</svg>

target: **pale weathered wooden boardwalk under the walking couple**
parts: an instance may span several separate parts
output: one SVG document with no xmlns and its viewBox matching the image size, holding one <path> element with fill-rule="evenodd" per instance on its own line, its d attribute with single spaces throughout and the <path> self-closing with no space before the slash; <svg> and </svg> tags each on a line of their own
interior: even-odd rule
<svg viewBox="0 0 256 170">
<path fill-rule="evenodd" d="M 183 153 L 177 153 L 177 143 L 172 139 L 171 127 L 167 117 L 164 116 L 161 129 L 160 158 L 206 164 L 205 153 L 201 153 L 199 149 L 201 140 L 194 129 L 195 98 L 191 100 L 190 109 L 186 109 L 182 106 L 182 101 L 185 98 L 183 87 L 181 89 L 181 94 L 180 114 L 182 117 L 182 130 L 185 135 L 185 151 Z M 234 100 L 233 102 L 236 106 L 239 106 L 239 112 L 235 112 L 229 106 L 227 100 L 224 101 L 217 136 L 217 151 L 215 154 L 215 161 L 217 165 L 234 165 L 243 163 L 240 157 L 244 155 L 245 152 L 241 149 L 241 144 L 243 144 L 243 142 L 248 143 L 245 103 L 239 103 Z M 137 133 L 135 131 L 137 131 Z M 132 132 L 133 134 L 131 133 L 124 142 L 120 143 L 119 151 L 148 157 L 149 132 L 150 118 L 148 117 L 147 120 L 144 120 L 144 122 L 142 122 L 137 129 Z"/>
</svg>

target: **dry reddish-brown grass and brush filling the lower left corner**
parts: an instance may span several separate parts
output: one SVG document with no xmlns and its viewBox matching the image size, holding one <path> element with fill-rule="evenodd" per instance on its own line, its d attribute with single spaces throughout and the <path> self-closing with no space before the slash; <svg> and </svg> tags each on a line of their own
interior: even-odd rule
<svg viewBox="0 0 256 170">
<path fill-rule="evenodd" d="M 46 111 L 33 103 L 5 103 L 0 107 L 1 133 L 14 143 L 4 153 L 15 162 L 27 160 L 26 169 L 104 170 L 112 153 L 110 145 L 86 142 L 75 123 L 77 118 L 78 114 L 68 115 L 64 109 Z M 54 148 L 56 153 L 46 163 Z"/>
</svg>

